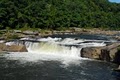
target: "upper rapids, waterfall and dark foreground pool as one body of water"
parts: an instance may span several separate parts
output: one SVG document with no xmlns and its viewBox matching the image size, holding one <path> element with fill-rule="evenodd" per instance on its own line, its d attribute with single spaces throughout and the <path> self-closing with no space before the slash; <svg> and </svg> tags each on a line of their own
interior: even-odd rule
<svg viewBox="0 0 120 80">
<path fill-rule="evenodd" d="M 24 44 L 28 52 L 1 53 L 0 80 L 119 80 L 111 70 L 115 64 L 80 57 L 83 47 L 105 46 L 108 40 L 48 37 L 36 41 L 6 43 Z"/>
</svg>

